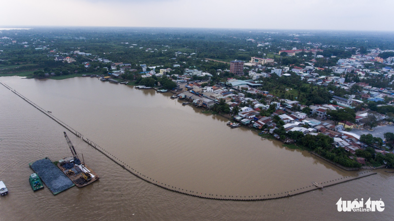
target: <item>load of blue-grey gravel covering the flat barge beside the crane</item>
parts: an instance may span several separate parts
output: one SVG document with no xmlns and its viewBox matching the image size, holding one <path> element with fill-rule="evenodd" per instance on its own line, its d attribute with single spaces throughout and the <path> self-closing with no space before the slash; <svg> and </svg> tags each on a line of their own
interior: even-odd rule
<svg viewBox="0 0 394 221">
<path fill-rule="evenodd" d="M 74 183 L 49 158 L 37 160 L 29 165 L 54 195 L 74 186 Z"/>
</svg>

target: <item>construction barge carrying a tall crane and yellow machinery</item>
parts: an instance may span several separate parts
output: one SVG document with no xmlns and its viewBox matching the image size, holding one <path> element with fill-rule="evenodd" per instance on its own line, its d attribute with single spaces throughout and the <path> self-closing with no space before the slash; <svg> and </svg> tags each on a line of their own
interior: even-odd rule
<svg viewBox="0 0 394 221">
<path fill-rule="evenodd" d="M 66 132 L 64 132 L 64 137 L 66 138 L 68 147 L 72 153 L 72 157 L 66 157 L 57 163 L 59 169 L 77 186 L 84 187 L 89 185 L 90 183 L 99 180 L 99 176 L 87 167 L 83 160 L 82 162 L 75 151 L 74 146 L 72 145 L 70 139 L 68 138 Z"/>
</svg>

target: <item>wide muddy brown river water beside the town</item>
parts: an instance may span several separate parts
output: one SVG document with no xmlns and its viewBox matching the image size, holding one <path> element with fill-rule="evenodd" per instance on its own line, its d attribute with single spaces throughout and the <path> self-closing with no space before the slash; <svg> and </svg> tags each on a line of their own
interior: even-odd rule
<svg viewBox="0 0 394 221">
<path fill-rule="evenodd" d="M 340 170 L 261 140 L 245 128 L 230 129 L 220 116 L 182 106 L 170 93 L 139 90 L 96 78 L 64 80 L 1 77 L 39 106 L 52 112 L 143 175 L 169 186 L 201 194 L 239 197 L 280 193 L 356 172 Z M 0 180 L 10 194 L 0 198 L 0 219 L 335 219 L 393 214 L 393 177 L 377 175 L 288 198 L 267 201 L 221 201 L 171 192 L 145 182 L 99 151 L 69 134 L 86 164 L 100 181 L 53 196 L 33 192 L 28 164 L 69 156 L 65 129 L 0 85 Z M 338 212 L 336 202 L 369 198 L 385 203 L 383 212 Z M 73 214 L 72 214 L 73 213 Z M 361 216 L 362 215 L 362 216 Z"/>
</svg>

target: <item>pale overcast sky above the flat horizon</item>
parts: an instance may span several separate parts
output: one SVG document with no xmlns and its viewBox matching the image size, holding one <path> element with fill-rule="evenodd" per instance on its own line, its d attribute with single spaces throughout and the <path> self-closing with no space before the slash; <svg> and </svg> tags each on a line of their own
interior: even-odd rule
<svg viewBox="0 0 394 221">
<path fill-rule="evenodd" d="M 1 5 L 0 27 L 394 31 L 393 0 L 13 0 Z"/>
</svg>

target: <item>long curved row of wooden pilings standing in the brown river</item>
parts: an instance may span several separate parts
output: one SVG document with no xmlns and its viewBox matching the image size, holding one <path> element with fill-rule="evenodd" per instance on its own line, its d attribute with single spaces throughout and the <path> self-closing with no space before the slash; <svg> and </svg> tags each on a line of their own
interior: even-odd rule
<svg viewBox="0 0 394 221">
<path fill-rule="evenodd" d="M 240 196 L 240 195 L 224 195 L 224 194 L 220 195 L 220 194 L 212 194 L 212 193 L 208 193 L 208 194 L 204 193 L 203 194 L 202 192 L 199 192 L 199 191 L 192 191 L 192 190 L 179 188 L 179 187 L 176 187 L 173 185 L 167 185 L 165 183 L 159 182 L 158 180 L 154 180 L 151 177 L 145 176 L 145 175 L 141 174 L 140 172 L 136 171 L 134 168 L 130 167 L 125 162 L 121 161 L 120 159 L 118 159 L 117 157 L 115 157 L 114 155 L 112 155 L 111 153 L 109 153 L 108 151 L 106 151 L 105 149 L 100 147 L 99 145 L 95 144 L 94 142 L 92 142 L 91 140 L 89 140 L 87 138 L 84 138 L 81 133 L 77 132 L 76 130 L 74 130 L 73 128 L 71 128 L 70 126 L 68 126 L 67 124 L 65 124 L 64 122 L 62 122 L 58 118 L 56 118 L 55 116 L 53 116 L 51 113 L 48 113 L 43 108 L 41 108 L 40 106 L 35 104 L 33 101 L 29 100 L 28 98 L 26 98 L 22 94 L 18 93 L 17 91 L 12 89 L 8 85 L 6 85 L 2 82 L 0 82 L 0 83 L 3 86 L 5 86 L 6 88 L 10 89 L 15 94 L 17 94 L 19 97 L 24 99 L 26 102 L 28 102 L 32 106 L 36 107 L 39 111 L 44 113 L 46 116 L 50 117 L 52 120 L 57 122 L 59 125 L 63 126 L 65 129 L 67 129 L 68 131 L 73 133 L 75 136 L 81 138 L 88 145 L 90 145 L 94 149 L 100 151 L 102 154 L 107 156 L 110 160 L 112 160 L 113 162 L 115 162 L 116 164 L 121 166 L 123 169 L 127 170 L 128 172 L 137 176 L 138 178 L 145 180 L 148 183 L 154 184 L 156 186 L 159 186 L 161 188 L 164 188 L 164 189 L 167 189 L 167 190 L 170 190 L 173 192 L 182 193 L 182 194 L 186 194 L 186 195 L 190 195 L 190 196 L 196 196 L 196 197 L 200 197 L 200 198 L 207 198 L 207 199 L 237 200 L 237 201 L 252 201 L 253 200 L 254 201 L 254 200 L 269 200 L 269 199 L 279 199 L 279 198 L 284 198 L 284 197 L 290 197 L 290 196 L 294 196 L 294 195 L 298 195 L 298 194 L 302 194 L 302 193 L 306 193 L 309 191 L 319 189 L 318 187 L 316 187 L 314 185 L 310 185 L 310 186 L 306 186 L 306 187 L 302 187 L 302 188 L 298 188 L 298 189 L 293 189 L 293 190 L 281 192 L 281 193 L 266 194 L 266 195 Z M 357 177 L 346 176 L 346 177 L 342 177 L 339 179 L 330 180 L 327 182 L 320 182 L 319 184 L 322 185 L 323 187 L 328 187 L 328 186 L 348 182 L 348 181 L 351 181 L 354 179 L 359 179 L 359 178 L 374 175 L 374 174 L 376 174 L 376 172 L 372 172 L 372 170 L 364 171 L 364 172 L 360 172 Z"/>
</svg>

